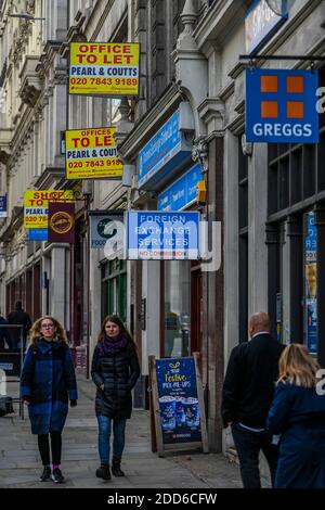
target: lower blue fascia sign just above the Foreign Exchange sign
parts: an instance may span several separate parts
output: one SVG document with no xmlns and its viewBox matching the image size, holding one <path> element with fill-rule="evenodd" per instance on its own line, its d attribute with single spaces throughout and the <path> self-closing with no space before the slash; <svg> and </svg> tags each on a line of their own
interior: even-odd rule
<svg viewBox="0 0 325 510">
<path fill-rule="evenodd" d="M 181 211 L 195 202 L 200 179 L 200 165 L 196 163 L 158 195 L 158 211 Z"/>
</svg>

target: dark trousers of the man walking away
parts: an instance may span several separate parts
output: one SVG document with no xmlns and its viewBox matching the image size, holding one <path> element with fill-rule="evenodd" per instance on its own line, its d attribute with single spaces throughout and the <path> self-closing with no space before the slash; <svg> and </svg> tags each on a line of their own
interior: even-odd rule
<svg viewBox="0 0 325 510">
<path fill-rule="evenodd" d="M 259 470 L 260 450 L 269 464 L 272 487 L 274 487 L 277 463 L 277 446 L 271 444 L 272 437 L 266 432 L 250 432 L 238 423 L 232 424 L 232 433 L 239 458 L 240 475 L 244 488 L 261 488 Z"/>
</svg>

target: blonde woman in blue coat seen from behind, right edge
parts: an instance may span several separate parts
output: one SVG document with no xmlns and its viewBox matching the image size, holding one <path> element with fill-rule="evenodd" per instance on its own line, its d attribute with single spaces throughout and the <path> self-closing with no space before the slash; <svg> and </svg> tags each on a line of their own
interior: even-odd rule
<svg viewBox="0 0 325 510">
<path fill-rule="evenodd" d="M 268 418 L 278 435 L 276 488 L 325 488 L 325 391 L 315 359 L 300 344 L 282 353 L 280 380 Z"/>
</svg>

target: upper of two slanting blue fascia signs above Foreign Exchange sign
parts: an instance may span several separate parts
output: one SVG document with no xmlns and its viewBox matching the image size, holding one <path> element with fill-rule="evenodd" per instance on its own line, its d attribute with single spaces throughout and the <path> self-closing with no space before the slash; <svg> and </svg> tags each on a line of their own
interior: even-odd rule
<svg viewBox="0 0 325 510">
<path fill-rule="evenodd" d="M 176 112 L 139 153 L 139 188 L 155 190 L 191 160 L 192 146 Z"/>
</svg>

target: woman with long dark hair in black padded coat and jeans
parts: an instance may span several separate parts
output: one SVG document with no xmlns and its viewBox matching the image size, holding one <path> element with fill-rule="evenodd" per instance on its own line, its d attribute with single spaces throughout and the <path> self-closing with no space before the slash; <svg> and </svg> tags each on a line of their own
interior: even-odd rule
<svg viewBox="0 0 325 510">
<path fill-rule="evenodd" d="M 91 377 L 96 385 L 95 412 L 99 422 L 99 452 L 101 467 L 96 476 L 110 480 L 109 439 L 113 422 L 112 473 L 123 476 L 120 469 L 125 447 L 126 421 L 131 417 L 132 397 L 140 375 L 135 344 L 119 317 L 104 319 L 99 342 L 94 348 Z"/>
</svg>

